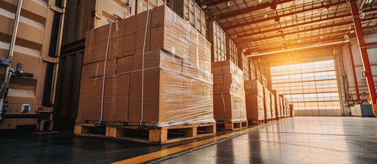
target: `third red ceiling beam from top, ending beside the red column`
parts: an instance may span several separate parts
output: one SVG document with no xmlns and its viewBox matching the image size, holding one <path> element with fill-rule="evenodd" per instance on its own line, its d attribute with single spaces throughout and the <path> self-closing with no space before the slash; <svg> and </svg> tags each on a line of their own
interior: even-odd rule
<svg viewBox="0 0 377 164">
<path fill-rule="evenodd" d="M 255 33 L 246 33 L 246 34 L 243 34 L 243 35 L 238 35 L 237 38 L 244 38 L 244 37 L 248 37 L 248 36 L 256 36 L 256 35 L 262 34 L 262 33 L 279 31 L 279 30 L 282 30 L 282 29 L 290 28 L 290 27 L 297 27 L 297 26 L 301 26 L 301 25 L 307 25 L 307 24 L 312 24 L 312 23 L 319 23 L 321 21 L 332 20 L 332 19 L 336 19 L 336 18 L 343 18 L 343 17 L 347 17 L 347 16 L 351 16 L 351 14 L 343 14 L 343 15 L 332 16 L 332 17 L 328 17 L 328 18 L 320 18 L 318 20 L 312 20 L 312 21 L 309 21 L 309 22 L 299 23 L 299 24 L 295 24 L 295 25 L 288 25 L 288 26 L 285 26 L 285 27 L 279 27 L 279 28 L 275 28 L 275 29 L 267 29 L 267 30 L 258 31 L 258 32 L 255 32 Z"/>
</svg>

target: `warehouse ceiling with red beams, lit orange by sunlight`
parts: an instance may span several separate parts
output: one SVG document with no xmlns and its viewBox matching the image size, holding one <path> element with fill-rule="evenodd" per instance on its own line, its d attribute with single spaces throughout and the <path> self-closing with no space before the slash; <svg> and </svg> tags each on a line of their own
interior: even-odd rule
<svg viewBox="0 0 377 164">
<path fill-rule="evenodd" d="M 345 0 L 196 0 L 245 55 L 339 42 L 355 35 Z M 364 33 L 377 33 L 377 0 L 358 1 Z"/>
</svg>

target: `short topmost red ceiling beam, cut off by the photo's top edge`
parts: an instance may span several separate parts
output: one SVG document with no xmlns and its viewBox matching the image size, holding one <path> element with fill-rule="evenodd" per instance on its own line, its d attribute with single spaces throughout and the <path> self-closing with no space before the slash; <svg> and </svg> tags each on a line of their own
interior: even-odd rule
<svg viewBox="0 0 377 164">
<path fill-rule="evenodd" d="M 290 1 L 295 1 L 295 0 L 281 0 L 281 1 L 275 1 L 273 3 L 262 3 L 260 5 L 256 5 L 255 8 L 247 8 L 245 10 L 240 10 L 238 12 L 225 13 L 225 14 L 214 16 L 214 17 L 216 17 L 217 20 L 221 20 L 221 19 L 225 19 L 225 18 L 232 18 L 234 16 L 239 16 L 239 15 L 242 15 L 242 14 L 255 12 L 257 10 L 262 10 L 262 9 L 265 9 L 265 8 L 271 8 L 271 6 L 273 6 L 273 4 L 279 5 L 279 4 L 287 3 L 287 2 L 290 2 Z"/>
</svg>

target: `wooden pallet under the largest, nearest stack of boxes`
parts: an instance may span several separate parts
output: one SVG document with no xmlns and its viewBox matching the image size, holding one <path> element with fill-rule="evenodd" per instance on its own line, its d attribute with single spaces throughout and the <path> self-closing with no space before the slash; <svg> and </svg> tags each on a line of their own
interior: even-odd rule
<svg viewBox="0 0 377 164">
<path fill-rule="evenodd" d="M 216 134 L 216 124 L 184 124 L 174 126 L 138 126 L 122 124 L 76 123 L 74 134 L 137 143 L 163 145 Z"/>
</svg>

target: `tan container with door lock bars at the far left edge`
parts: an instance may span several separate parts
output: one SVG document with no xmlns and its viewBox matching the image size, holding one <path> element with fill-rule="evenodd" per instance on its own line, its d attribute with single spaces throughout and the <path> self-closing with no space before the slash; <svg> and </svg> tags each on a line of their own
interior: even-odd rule
<svg viewBox="0 0 377 164">
<path fill-rule="evenodd" d="M 9 53 L 17 2 L 0 1 L 0 56 L 4 58 Z M 11 78 L 5 98 L 8 110 L 4 115 L 8 118 L 0 123 L 0 129 L 16 128 L 17 125 L 36 125 L 38 128 L 41 119 L 32 118 L 32 115 L 47 115 L 45 120 L 52 118 L 64 6 L 65 1 L 61 0 L 23 1 L 12 68 L 21 63 L 23 72 L 30 72 L 34 77 Z M 0 72 L 3 81 L 5 66 Z M 24 118 L 18 119 L 20 115 Z"/>
</svg>

